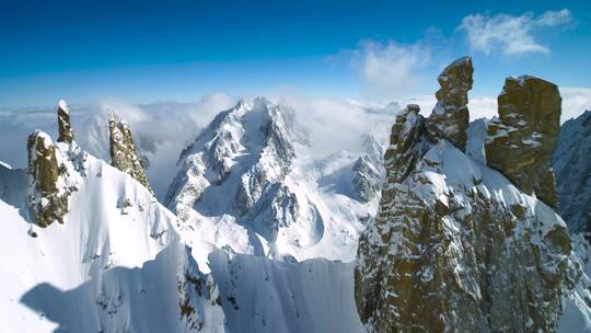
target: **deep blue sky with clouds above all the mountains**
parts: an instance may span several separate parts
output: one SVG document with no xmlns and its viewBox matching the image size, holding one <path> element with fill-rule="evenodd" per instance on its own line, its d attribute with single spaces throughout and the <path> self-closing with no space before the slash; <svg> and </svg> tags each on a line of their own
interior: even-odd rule
<svg viewBox="0 0 591 333">
<path fill-rule="evenodd" d="M 591 2 L 0 1 L 0 107 L 211 92 L 384 100 L 432 94 L 463 55 L 473 95 L 521 73 L 591 88 Z"/>
</svg>

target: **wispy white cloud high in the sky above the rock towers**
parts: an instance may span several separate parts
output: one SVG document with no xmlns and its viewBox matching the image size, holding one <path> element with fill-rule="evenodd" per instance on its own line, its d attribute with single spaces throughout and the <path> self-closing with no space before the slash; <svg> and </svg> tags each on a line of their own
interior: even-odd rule
<svg viewBox="0 0 591 333">
<path fill-rule="evenodd" d="M 470 47 L 485 54 L 515 55 L 549 53 L 549 48 L 535 39 L 543 27 L 564 25 L 572 21 L 569 10 L 546 11 L 540 16 L 526 12 L 520 16 L 509 14 L 471 14 L 457 27 L 467 35 Z"/>
</svg>

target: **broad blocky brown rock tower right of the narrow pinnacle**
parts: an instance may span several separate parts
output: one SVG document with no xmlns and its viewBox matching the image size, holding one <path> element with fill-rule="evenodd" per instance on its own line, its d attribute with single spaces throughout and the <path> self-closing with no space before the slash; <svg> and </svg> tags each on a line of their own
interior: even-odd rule
<svg viewBox="0 0 591 333">
<path fill-rule="evenodd" d="M 526 194 L 556 208 L 549 159 L 560 127 L 558 87 L 538 78 L 507 78 L 498 97 L 499 118 L 488 125 L 487 164 Z"/>
</svg>

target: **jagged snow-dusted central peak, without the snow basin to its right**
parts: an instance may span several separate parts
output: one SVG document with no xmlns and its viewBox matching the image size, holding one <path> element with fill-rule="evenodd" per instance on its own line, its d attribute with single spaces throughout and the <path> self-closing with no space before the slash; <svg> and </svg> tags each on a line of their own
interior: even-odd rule
<svg viewBox="0 0 591 333">
<path fill-rule="evenodd" d="M 247 242 L 254 249 L 268 246 L 274 256 L 317 243 L 322 217 L 311 198 L 288 180 L 294 145 L 304 141 L 293 116 L 288 106 L 262 97 L 243 100 L 220 113 L 182 153 L 169 207 L 185 221 L 192 216 L 200 219 L 199 215 L 233 216 L 247 226 Z"/>
</svg>

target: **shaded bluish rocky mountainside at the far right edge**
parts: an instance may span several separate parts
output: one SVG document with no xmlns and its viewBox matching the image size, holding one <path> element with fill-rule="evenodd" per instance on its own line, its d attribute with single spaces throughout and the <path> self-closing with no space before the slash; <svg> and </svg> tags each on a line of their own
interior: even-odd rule
<svg viewBox="0 0 591 333">
<path fill-rule="evenodd" d="M 571 233 L 591 241 L 591 111 L 563 124 L 552 166 L 560 216 Z"/>
</svg>

